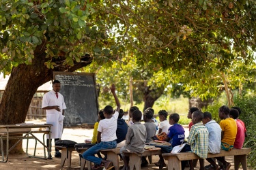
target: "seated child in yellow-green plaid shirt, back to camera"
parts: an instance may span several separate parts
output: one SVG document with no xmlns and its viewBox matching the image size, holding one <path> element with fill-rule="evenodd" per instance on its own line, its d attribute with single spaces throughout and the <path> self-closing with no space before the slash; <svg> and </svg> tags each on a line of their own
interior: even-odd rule
<svg viewBox="0 0 256 170">
<path fill-rule="evenodd" d="M 188 145 L 191 151 L 200 158 L 207 158 L 209 133 L 207 128 L 201 122 L 203 120 L 203 112 L 197 110 L 192 114 L 193 126 L 188 135 Z M 190 169 L 193 170 L 193 160 L 188 160 Z M 203 159 L 199 160 L 200 170 L 203 170 Z"/>
</svg>

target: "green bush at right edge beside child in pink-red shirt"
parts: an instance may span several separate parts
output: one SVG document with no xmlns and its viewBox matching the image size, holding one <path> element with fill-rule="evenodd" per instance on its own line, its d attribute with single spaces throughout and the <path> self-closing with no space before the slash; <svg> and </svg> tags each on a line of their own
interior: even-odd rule
<svg viewBox="0 0 256 170">
<path fill-rule="evenodd" d="M 242 109 L 239 118 L 245 123 L 247 129 L 248 137 L 244 141 L 244 147 L 251 148 L 251 153 L 248 155 L 248 165 L 256 169 L 256 96 L 236 97 L 234 103 Z"/>
</svg>

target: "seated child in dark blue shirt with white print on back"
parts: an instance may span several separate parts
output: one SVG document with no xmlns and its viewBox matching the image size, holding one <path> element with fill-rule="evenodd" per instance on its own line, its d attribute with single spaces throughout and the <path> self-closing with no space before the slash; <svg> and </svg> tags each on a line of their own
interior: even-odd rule
<svg viewBox="0 0 256 170">
<path fill-rule="evenodd" d="M 171 114 L 169 116 L 169 124 L 173 125 L 169 127 L 166 141 L 169 141 L 171 143 L 171 146 L 156 146 L 157 148 L 161 148 L 162 153 L 170 153 L 171 150 L 173 150 L 173 147 L 178 146 L 184 142 L 185 138 L 185 131 L 182 127 L 182 125 L 177 124 L 179 122 L 180 116 L 179 114 Z M 162 169 L 163 167 L 166 167 L 165 160 L 162 157 L 162 155 L 159 155 L 159 160 L 155 165 L 159 167 L 159 169 Z"/>
</svg>

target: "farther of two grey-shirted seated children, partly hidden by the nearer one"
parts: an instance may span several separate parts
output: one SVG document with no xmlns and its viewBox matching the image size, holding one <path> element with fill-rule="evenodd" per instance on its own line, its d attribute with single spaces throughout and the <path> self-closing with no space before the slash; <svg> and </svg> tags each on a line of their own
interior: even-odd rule
<svg viewBox="0 0 256 170">
<path fill-rule="evenodd" d="M 145 109 L 145 112 L 143 114 L 143 120 L 145 122 L 145 127 L 147 131 L 147 138 L 146 143 L 150 143 L 152 141 L 152 137 L 156 135 L 156 125 L 154 122 L 152 122 L 154 112 L 152 112 L 152 109 Z M 145 156 L 141 157 L 141 166 L 148 165 L 147 159 Z"/>
</svg>

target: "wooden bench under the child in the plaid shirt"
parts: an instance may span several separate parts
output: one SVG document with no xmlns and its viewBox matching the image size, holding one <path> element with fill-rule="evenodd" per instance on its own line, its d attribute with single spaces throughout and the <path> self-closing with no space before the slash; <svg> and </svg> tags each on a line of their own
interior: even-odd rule
<svg viewBox="0 0 256 170">
<path fill-rule="evenodd" d="M 241 150 L 233 149 L 231 151 L 221 150 L 219 154 L 208 154 L 208 158 L 215 158 L 221 156 L 234 156 L 235 170 L 239 169 L 240 163 L 244 170 L 247 170 L 247 160 L 246 155 L 251 152 L 251 148 L 242 148 Z M 182 160 L 192 160 L 200 159 L 199 156 L 192 152 L 180 152 L 177 154 L 162 154 L 165 160 L 168 161 L 168 170 L 181 170 L 182 169 Z"/>
</svg>

